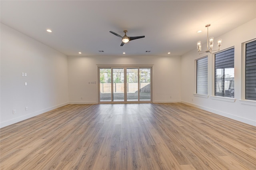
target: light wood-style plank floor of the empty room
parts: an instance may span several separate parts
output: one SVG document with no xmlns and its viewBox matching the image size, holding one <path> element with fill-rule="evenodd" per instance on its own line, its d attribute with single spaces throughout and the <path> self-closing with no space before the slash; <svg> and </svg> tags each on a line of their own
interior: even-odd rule
<svg viewBox="0 0 256 170">
<path fill-rule="evenodd" d="M 1 170 L 256 170 L 256 127 L 182 103 L 66 105 L 0 130 Z"/>
</svg>

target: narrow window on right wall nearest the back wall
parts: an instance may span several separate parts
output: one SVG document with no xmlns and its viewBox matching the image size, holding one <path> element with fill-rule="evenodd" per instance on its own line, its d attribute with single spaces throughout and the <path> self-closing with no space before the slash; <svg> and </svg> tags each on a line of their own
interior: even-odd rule
<svg viewBox="0 0 256 170">
<path fill-rule="evenodd" d="M 208 95 L 208 57 L 196 60 L 196 93 Z"/>
</svg>

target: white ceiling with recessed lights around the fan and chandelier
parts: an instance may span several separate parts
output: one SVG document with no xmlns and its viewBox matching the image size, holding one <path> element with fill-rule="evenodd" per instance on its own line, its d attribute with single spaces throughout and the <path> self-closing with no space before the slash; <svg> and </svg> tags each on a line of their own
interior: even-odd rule
<svg viewBox="0 0 256 170">
<path fill-rule="evenodd" d="M 209 36 L 219 37 L 256 18 L 256 0 L 1 0 L 0 5 L 3 24 L 66 55 L 183 55 L 196 49 L 198 40 L 206 43 L 206 24 Z M 123 36 L 123 30 L 145 38 L 121 47 L 121 38 L 109 31 Z"/>
</svg>

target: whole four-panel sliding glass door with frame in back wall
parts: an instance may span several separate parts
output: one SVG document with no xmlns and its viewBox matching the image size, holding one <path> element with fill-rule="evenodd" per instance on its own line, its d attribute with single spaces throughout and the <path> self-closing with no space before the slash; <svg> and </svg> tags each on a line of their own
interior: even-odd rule
<svg viewBox="0 0 256 170">
<path fill-rule="evenodd" d="M 99 103 L 152 101 L 152 67 L 98 67 Z"/>
</svg>

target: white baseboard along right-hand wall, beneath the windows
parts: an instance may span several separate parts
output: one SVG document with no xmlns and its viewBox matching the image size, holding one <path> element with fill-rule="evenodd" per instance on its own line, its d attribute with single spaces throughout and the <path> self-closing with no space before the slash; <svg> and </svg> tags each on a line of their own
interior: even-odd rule
<svg viewBox="0 0 256 170">
<path fill-rule="evenodd" d="M 193 106 L 193 107 L 197 107 L 199 109 L 203 109 L 205 111 L 208 111 L 208 112 L 211 112 L 211 113 L 215 113 L 217 115 L 221 115 L 221 116 L 224 116 L 224 117 L 228 117 L 230 119 L 234 119 L 236 121 L 240 121 L 242 123 L 246 123 L 248 125 L 252 125 L 252 126 L 256 126 L 256 121 L 253 121 L 253 120 L 250 120 L 250 119 L 246 119 L 244 117 L 239 117 L 239 116 L 236 116 L 236 115 L 232 115 L 230 113 L 226 113 L 226 112 L 222 112 L 222 111 L 218 111 L 218 110 L 215 110 L 215 109 L 211 109 L 211 108 L 208 108 L 208 107 L 204 107 L 204 106 L 200 106 L 200 105 L 195 105 L 193 103 L 189 103 L 189 102 L 185 102 L 185 101 L 181 101 L 181 103 L 184 103 L 186 105 L 190 105 L 190 106 Z"/>
</svg>

